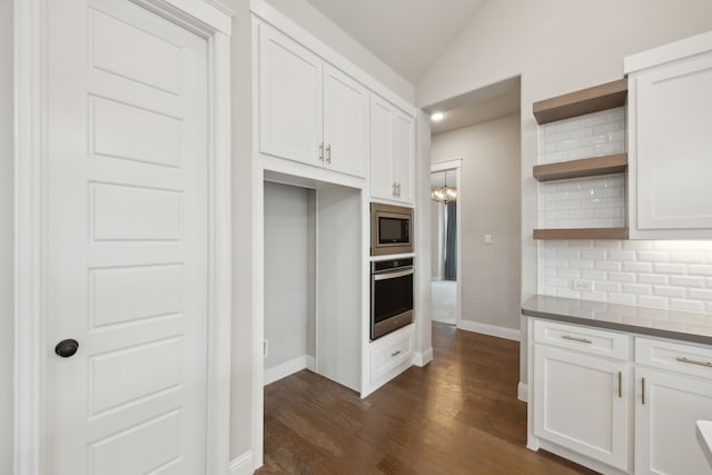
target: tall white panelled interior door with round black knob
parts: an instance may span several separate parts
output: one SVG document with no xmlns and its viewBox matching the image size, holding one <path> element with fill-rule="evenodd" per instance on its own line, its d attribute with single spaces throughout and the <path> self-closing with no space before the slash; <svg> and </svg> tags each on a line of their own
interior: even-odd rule
<svg viewBox="0 0 712 475">
<path fill-rule="evenodd" d="M 207 43 L 128 0 L 48 6 L 43 473 L 202 474 Z"/>
</svg>

